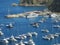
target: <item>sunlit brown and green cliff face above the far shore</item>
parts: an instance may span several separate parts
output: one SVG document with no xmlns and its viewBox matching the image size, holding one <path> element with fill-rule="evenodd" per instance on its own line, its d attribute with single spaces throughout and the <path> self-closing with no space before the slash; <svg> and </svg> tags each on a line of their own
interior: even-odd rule
<svg viewBox="0 0 60 45">
<path fill-rule="evenodd" d="M 49 0 L 20 0 L 20 4 L 45 4 Z"/>
</svg>

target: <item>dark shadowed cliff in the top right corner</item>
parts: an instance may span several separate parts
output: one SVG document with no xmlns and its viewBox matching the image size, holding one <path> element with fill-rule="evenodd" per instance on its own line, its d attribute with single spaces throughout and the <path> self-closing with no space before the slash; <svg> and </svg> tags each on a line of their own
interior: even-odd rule
<svg viewBox="0 0 60 45">
<path fill-rule="evenodd" d="M 49 9 L 53 12 L 60 12 L 60 0 L 54 0 Z"/>
</svg>

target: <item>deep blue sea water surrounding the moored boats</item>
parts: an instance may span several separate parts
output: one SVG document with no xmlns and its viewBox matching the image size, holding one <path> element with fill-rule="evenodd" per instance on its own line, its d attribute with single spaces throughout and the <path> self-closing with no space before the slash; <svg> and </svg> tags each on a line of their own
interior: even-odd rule
<svg viewBox="0 0 60 45">
<path fill-rule="evenodd" d="M 0 26 L 2 28 L 2 32 L 4 33 L 3 38 L 10 37 L 11 35 L 18 36 L 20 34 L 25 34 L 28 32 L 37 32 L 38 36 L 37 38 L 33 38 L 36 45 L 53 45 L 56 42 L 60 42 L 60 37 L 53 39 L 51 41 L 42 39 L 43 35 L 50 34 L 50 33 L 56 33 L 60 32 L 60 29 L 54 29 L 52 28 L 52 25 L 55 25 L 52 23 L 52 18 L 47 18 L 46 22 L 40 23 L 39 28 L 34 28 L 30 24 L 33 22 L 38 22 L 42 16 L 39 16 L 38 18 L 32 18 L 32 19 L 26 19 L 26 18 L 12 18 L 12 19 L 6 19 L 5 15 L 8 14 L 18 14 L 28 11 L 34 11 L 34 10 L 44 10 L 45 6 L 41 7 L 23 7 L 23 6 L 16 6 L 13 7 L 12 3 L 18 3 L 19 0 L 0 0 L 0 24 L 4 24 L 4 26 Z M 9 10 L 9 12 L 8 12 Z M 13 23 L 14 28 L 8 29 L 5 25 Z M 59 23 L 57 23 L 59 24 Z M 50 32 L 49 33 L 42 33 L 41 29 L 46 28 Z M 57 41 L 56 41 L 57 40 Z M 0 43 L 0 45 L 5 45 L 3 43 Z M 9 45 L 14 45 L 9 44 Z"/>
</svg>

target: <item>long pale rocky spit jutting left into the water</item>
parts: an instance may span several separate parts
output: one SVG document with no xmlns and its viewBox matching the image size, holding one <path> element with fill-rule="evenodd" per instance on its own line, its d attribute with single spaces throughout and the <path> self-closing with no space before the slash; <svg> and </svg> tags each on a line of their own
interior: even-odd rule
<svg viewBox="0 0 60 45">
<path fill-rule="evenodd" d="M 26 18 L 26 17 L 35 17 L 35 16 L 44 16 L 48 13 L 52 13 L 52 12 L 48 12 L 48 11 L 30 11 L 30 12 L 25 12 L 25 13 L 20 13 L 20 14 L 11 14 L 11 15 L 6 15 L 6 18 Z"/>
</svg>

